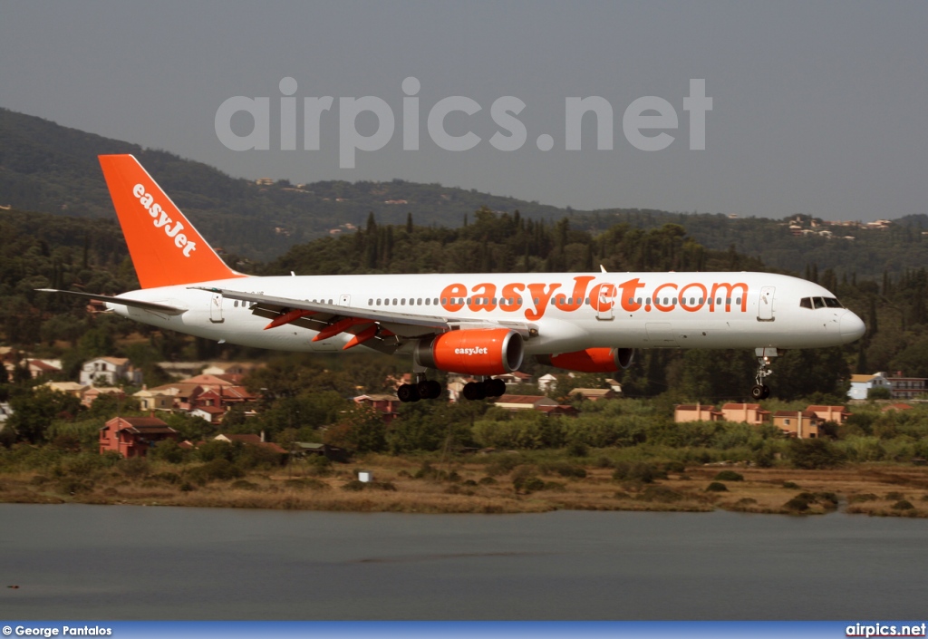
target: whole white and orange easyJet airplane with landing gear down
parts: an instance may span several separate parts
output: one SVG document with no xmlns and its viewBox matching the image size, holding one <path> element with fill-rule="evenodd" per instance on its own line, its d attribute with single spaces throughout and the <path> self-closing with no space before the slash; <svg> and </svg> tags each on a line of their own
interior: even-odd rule
<svg viewBox="0 0 928 639">
<path fill-rule="evenodd" d="M 287 351 L 355 347 L 412 359 L 397 396 L 441 396 L 430 370 L 470 374 L 468 399 L 525 357 L 618 372 L 639 348 L 754 348 L 751 395 L 767 398 L 785 349 L 840 346 L 864 322 L 827 289 L 758 272 L 482 273 L 254 277 L 213 251 L 132 155 L 99 162 L 141 289 L 99 300 L 122 317 L 221 343 Z M 600 267 L 601 268 L 601 267 Z"/>
</svg>

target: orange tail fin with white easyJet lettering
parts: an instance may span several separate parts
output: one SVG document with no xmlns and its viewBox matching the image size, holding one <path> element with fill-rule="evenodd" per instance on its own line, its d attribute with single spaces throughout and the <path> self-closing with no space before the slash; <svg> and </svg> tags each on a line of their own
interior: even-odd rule
<svg viewBox="0 0 928 639">
<path fill-rule="evenodd" d="M 134 156 L 99 160 L 143 289 L 245 277 L 226 266 Z"/>
</svg>

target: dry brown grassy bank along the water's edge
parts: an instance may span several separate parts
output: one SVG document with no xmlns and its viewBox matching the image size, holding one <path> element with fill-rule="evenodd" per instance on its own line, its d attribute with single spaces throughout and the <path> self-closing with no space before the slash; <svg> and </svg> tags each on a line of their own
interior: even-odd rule
<svg viewBox="0 0 928 639">
<path fill-rule="evenodd" d="M 373 481 L 356 480 L 358 471 Z M 611 462 L 495 453 L 441 461 L 368 455 L 352 464 L 297 463 L 242 472 L 228 463 L 61 455 L 47 467 L 0 471 L 0 502 L 124 503 L 402 513 L 552 510 L 928 516 L 928 468 L 853 463 L 797 470 Z"/>
</svg>

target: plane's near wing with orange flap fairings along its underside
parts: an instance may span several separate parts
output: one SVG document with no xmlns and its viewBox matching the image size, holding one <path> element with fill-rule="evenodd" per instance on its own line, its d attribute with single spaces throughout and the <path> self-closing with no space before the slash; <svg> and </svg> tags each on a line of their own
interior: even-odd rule
<svg viewBox="0 0 928 639">
<path fill-rule="evenodd" d="M 207 286 L 191 286 L 190 288 L 220 293 L 223 297 L 250 303 L 252 314 L 272 320 L 267 325 L 267 329 L 293 324 L 319 332 L 320 335 L 316 336 L 316 339 L 325 339 L 339 333 L 351 333 L 355 339 L 345 346 L 346 348 L 370 340 L 367 346 L 392 352 L 402 344 L 404 338 L 445 333 L 445 331 L 463 325 L 509 328 L 523 333 L 525 337 L 537 334 L 534 325 L 530 326 L 520 321 L 474 321 L 466 318 L 403 313 L 380 308 L 339 306 Z"/>
</svg>

